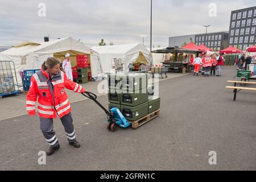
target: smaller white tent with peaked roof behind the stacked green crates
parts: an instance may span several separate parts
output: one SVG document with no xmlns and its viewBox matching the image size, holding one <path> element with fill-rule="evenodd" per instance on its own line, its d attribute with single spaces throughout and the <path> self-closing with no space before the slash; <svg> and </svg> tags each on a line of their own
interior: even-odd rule
<svg viewBox="0 0 256 182">
<path fill-rule="evenodd" d="M 123 60 L 123 72 L 129 71 L 129 64 L 135 61 L 145 61 L 151 64 L 152 55 L 150 51 L 142 46 L 142 44 L 122 44 L 114 46 L 95 46 L 91 48 L 100 56 L 98 64 L 101 65 L 103 73 L 113 71 L 114 59 Z"/>
</svg>

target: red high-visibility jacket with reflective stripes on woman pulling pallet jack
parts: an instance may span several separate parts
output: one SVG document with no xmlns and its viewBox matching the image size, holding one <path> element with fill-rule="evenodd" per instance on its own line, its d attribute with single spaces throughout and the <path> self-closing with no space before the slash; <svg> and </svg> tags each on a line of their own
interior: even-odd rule
<svg viewBox="0 0 256 182">
<path fill-rule="evenodd" d="M 73 90 L 77 93 L 85 92 L 85 89 L 71 80 L 67 80 L 65 73 L 59 71 L 52 78 L 53 96 L 47 82 L 49 74 L 41 68 L 41 71 L 36 72 L 31 77 L 31 85 L 28 90 L 26 106 L 27 112 L 30 115 L 35 115 L 36 100 L 38 100 L 38 114 L 43 118 L 59 118 L 71 112 L 68 96 L 65 93 L 65 88 Z"/>
</svg>

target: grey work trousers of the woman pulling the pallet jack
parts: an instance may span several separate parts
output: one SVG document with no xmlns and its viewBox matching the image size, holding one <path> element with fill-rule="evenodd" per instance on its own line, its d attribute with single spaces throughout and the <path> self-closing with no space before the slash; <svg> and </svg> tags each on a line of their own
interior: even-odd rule
<svg viewBox="0 0 256 182">
<path fill-rule="evenodd" d="M 73 142 L 76 139 L 76 132 L 73 126 L 73 119 L 71 113 L 64 115 L 60 118 L 62 125 L 64 126 L 67 138 L 69 142 Z M 59 144 L 55 131 L 53 131 L 53 118 L 40 117 L 40 129 L 51 147 Z"/>
</svg>

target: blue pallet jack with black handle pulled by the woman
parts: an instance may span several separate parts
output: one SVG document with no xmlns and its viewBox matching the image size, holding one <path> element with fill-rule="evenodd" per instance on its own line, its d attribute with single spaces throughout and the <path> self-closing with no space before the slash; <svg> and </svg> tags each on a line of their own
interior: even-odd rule
<svg viewBox="0 0 256 182">
<path fill-rule="evenodd" d="M 110 111 L 106 110 L 104 106 L 100 104 L 100 102 L 97 101 L 97 96 L 96 94 L 92 92 L 84 92 L 82 93 L 83 96 L 89 98 L 90 100 L 93 100 L 98 106 L 101 107 L 105 111 L 105 113 L 108 115 L 108 124 L 107 124 L 107 129 L 109 131 L 117 131 L 117 125 L 119 127 L 129 127 L 131 126 L 131 123 L 129 123 L 125 117 L 123 117 L 123 114 L 117 107 L 114 107 L 110 109 Z"/>
</svg>

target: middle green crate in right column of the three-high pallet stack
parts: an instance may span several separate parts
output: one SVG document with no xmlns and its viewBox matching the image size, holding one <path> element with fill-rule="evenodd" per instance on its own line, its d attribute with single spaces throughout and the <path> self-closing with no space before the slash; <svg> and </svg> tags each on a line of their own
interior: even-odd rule
<svg viewBox="0 0 256 182">
<path fill-rule="evenodd" d="M 134 107 L 147 101 L 148 101 L 147 89 L 139 90 L 138 92 L 134 92 L 134 93 L 127 93 L 127 90 L 125 90 L 125 92 L 121 90 L 121 105 Z"/>
</svg>

